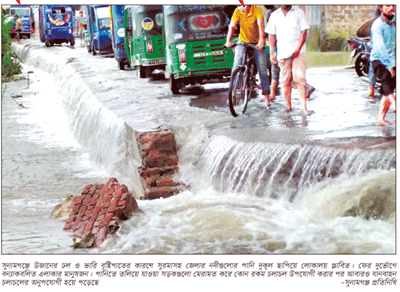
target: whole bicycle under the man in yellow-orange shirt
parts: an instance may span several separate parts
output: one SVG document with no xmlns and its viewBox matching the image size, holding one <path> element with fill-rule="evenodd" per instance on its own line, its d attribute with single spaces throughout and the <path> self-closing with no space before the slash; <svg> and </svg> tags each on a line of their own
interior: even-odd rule
<svg viewBox="0 0 400 292">
<path fill-rule="evenodd" d="M 238 44 L 233 44 L 232 48 Z M 254 50 L 257 47 L 252 44 L 240 44 L 245 46 L 243 63 L 233 71 L 229 82 L 229 109 L 234 117 L 244 114 L 251 99 L 251 94 L 257 88 L 255 75 L 257 73 Z"/>
</svg>

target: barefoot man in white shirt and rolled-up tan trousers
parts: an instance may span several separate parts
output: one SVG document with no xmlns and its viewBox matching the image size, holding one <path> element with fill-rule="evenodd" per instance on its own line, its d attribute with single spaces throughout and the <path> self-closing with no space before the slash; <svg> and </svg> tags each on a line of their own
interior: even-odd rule
<svg viewBox="0 0 400 292">
<path fill-rule="evenodd" d="M 294 87 L 299 91 L 303 114 L 308 114 L 305 59 L 308 29 L 303 10 L 292 5 L 281 5 L 280 9 L 271 14 L 267 24 L 271 62 L 273 64 L 279 62 L 281 69 L 286 112 L 292 110 L 292 87 Z"/>
</svg>

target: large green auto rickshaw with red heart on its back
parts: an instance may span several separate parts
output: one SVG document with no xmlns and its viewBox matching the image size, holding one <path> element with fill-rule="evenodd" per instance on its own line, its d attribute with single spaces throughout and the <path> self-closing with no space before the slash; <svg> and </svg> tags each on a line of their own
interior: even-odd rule
<svg viewBox="0 0 400 292">
<path fill-rule="evenodd" d="M 229 81 L 234 57 L 224 47 L 228 11 L 225 5 L 164 6 L 166 70 L 174 94 L 188 84 Z"/>
</svg>

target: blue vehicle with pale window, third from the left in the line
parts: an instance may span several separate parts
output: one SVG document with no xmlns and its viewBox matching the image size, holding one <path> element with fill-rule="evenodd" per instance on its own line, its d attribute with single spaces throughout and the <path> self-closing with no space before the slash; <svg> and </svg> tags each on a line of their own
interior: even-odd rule
<svg viewBox="0 0 400 292">
<path fill-rule="evenodd" d="M 87 48 L 96 54 L 112 54 L 110 34 L 110 8 L 108 5 L 86 6 Z"/>
</svg>

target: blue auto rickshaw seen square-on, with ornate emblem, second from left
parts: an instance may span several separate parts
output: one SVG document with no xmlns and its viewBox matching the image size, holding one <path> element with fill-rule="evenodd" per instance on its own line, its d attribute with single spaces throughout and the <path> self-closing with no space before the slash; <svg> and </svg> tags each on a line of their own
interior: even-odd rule
<svg viewBox="0 0 400 292">
<path fill-rule="evenodd" d="M 46 47 L 54 44 L 75 45 L 72 5 L 40 5 L 39 37 Z"/>
</svg>

